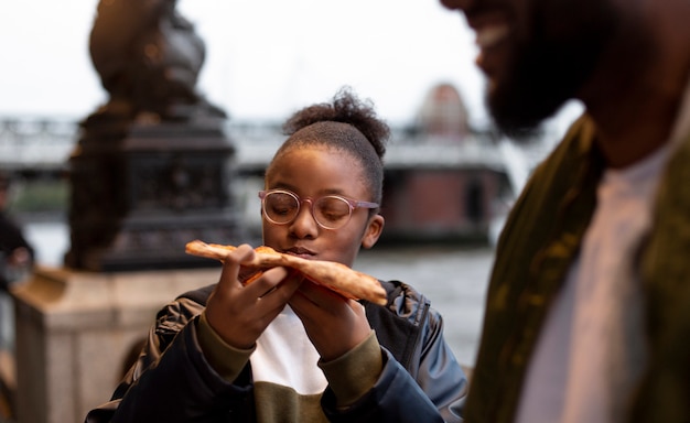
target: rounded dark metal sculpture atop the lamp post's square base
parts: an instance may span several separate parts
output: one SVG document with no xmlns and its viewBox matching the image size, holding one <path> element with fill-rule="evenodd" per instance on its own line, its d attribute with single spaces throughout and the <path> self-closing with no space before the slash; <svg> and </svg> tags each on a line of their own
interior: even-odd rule
<svg viewBox="0 0 690 423">
<path fill-rule="evenodd" d="M 89 51 L 110 99 L 93 118 L 225 117 L 196 90 L 205 45 L 176 3 L 100 0 Z"/>
</svg>

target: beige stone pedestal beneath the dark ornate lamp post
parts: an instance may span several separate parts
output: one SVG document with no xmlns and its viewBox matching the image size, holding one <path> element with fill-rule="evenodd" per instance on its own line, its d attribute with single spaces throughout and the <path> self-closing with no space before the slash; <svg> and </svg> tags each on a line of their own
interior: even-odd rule
<svg viewBox="0 0 690 423">
<path fill-rule="evenodd" d="M 110 399 L 128 350 L 148 334 L 155 313 L 219 275 L 218 265 L 116 273 L 37 269 L 12 293 L 18 421 L 83 422 Z"/>
</svg>

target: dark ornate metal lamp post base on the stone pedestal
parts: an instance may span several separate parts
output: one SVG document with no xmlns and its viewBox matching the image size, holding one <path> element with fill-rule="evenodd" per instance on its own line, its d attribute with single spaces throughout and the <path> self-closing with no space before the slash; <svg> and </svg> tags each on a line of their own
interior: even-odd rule
<svg viewBox="0 0 690 423">
<path fill-rule="evenodd" d="M 190 268 L 194 238 L 241 238 L 229 195 L 226 113 L 195 85 L 205 47 L 174 0 L 103 0 L 90 55 L 108 101 L 69 159 L 74 269 Z"/>
</svg>

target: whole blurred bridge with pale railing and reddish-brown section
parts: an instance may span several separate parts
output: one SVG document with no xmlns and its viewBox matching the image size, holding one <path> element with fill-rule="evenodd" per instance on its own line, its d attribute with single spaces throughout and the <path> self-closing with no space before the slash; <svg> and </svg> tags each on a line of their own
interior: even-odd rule
<svg viewBox="0 0 690 423">
<path fill-rule="evenodd" d="M 79 130 L 76 119 L 0 118 L 0 170 L 26 181 L 64 180 Z M 225 132 L 236 149 L 236 204 L 248 225 L 258 227 L 259 215 L 249 198 L 260 189 L 263 171 L 285 135 L 274 121 L 228 121 Z M 548 144 L 543 142 L 518 149 L 489 133 L 452 139 L 392 127 L 385 158 L 386 195 L 390 198 L 385 203 L 403 205 L 409 212 L 387 217 L 387 234 L 439 238 L 440 234 L 485 231 L 485 223 L 505 213 L 546 151 Z M 442 197 L 448 204 L 429 208 L 419 200 L 439 192 L 445 193 Z M 430 215 L 433 213 L 448 216 Z"/>
</svg>

